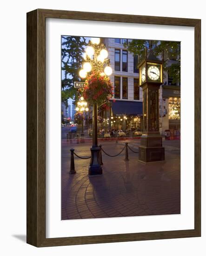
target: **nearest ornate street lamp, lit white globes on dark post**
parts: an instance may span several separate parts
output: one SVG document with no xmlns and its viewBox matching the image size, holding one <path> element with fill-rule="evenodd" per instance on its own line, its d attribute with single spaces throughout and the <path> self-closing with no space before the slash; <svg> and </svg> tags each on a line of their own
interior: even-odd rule
<svg viewBox="0 0 206 256">
<path fill-rule="evenodd" d="M 108 52 L 104 44 L 100 44 L 100 38 L 92 38 L 89 46 L 86 47 L 84 54 L 85 63 L 80 70 L 80 77 L 86 78 L 87 73 L 91 71 L 101 72 L 102 76 L 112 74 L 112 68 L 109 67 L 110 61 L 107 59 Z M 106 100 L 106 99 L 105 99 Z M 102 174 L 100 164 L 100 147 L 97 138 L 97 103 L 93 102 L 93 143 L 91 148 L 91 161 L 89 165 L 89 175 Z"/>
</svg>

